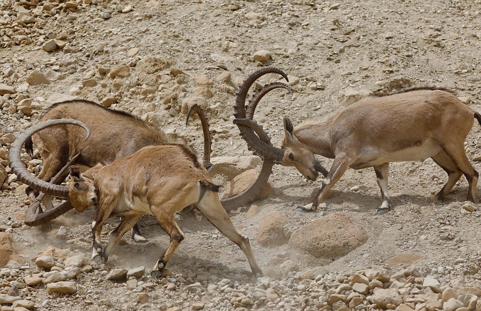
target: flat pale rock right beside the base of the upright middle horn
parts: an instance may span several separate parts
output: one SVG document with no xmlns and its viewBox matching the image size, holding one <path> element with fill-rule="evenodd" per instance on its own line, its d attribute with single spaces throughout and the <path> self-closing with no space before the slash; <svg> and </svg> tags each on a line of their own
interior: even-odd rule
<svg viewBox="0 0 481 311">
<path fill-rule="evenodd" d="M 262 160 L 257 156 L 246 157 L 213 157 L 210 162 L 214 165 L 209 171 L 210 176 L 222 174 L 232 180 L 235 176 L 254 169 Z"/>
</svg>

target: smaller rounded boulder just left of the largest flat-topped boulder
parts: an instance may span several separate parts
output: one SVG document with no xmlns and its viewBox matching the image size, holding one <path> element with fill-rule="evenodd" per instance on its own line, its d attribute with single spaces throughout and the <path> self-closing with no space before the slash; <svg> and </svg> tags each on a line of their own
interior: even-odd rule
<svg viewBox="0 0 481 311">
<path fill-rule="evenodd" d="M 260 221 L 257 231 L 257 242 L 263 247 L 279 246 L 287 243 L 284 226 L 289 222 L 286 214 L 278 211 L 270 212 Z"/>
</svg>

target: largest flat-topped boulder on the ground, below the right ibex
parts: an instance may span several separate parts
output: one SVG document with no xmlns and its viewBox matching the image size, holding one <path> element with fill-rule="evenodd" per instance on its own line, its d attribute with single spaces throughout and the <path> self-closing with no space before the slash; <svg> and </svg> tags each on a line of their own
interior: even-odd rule
<svg viewBox="0 0 481 311">
<path fill-rule="evenodd" d="M 306 266 L 323 266 L 367 241 L 366 232 L 344 213 L 333 213 L 317 219 L 292 234 L 290 254 Z"/>
</svg>

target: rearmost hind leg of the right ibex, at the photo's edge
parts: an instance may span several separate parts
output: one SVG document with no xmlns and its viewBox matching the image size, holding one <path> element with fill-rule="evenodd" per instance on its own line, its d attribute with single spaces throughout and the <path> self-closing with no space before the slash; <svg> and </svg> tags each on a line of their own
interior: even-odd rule
<svg viewBox="0 0 481 311">
<path fill-rule="evenodd" d="M 462 142 L 460 144 L 449 144 L 441 146 L 442 150 L 451 158 L 452 162 L 456 164 L 457 168 L 464 174 L 468 182 L 467 189 L 467 201 L 474 202 L 476 197 L 476 186 L 478 179 L 478 172 L 472 167 L 471 163 L 467 159 L 466 153 L 464 152 L 464 145 Z"/>
</svg>

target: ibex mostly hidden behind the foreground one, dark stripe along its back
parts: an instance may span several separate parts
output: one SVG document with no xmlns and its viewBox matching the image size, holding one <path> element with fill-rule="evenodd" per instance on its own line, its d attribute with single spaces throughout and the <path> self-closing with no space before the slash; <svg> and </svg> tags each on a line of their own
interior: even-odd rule
<svg viewBox="0 0 481 311">
<path fill-rule="evenodd" d="M 197 110 L 194 111 L 197 112 Z M 133 154 L 145 146 L 185 143 L 184 139 L 176 134 L 165 134 L 129 113 L 107 109 L 91 101 L 71 100 L 53 104 L 40 118 L 40 121 L 61 118 L 75 119 L 85 123 L 91 129 L 92 134 L 88 140 L 85 140 L 80 128 L 58 125 L 47 128 L 33 135 L 31 139 L 27 139 L 25 149 L 32 152 L 32 142 L 35 143 L 43 159 L 43 168 L 38 174 L 38 177 L 43 181 L 50 181 L 55 174 L 60 172 L 62 167 L 65 167 L 69 157 L 80 151 L 80 155 L 73 161 L 73 164 L 89 168 L 97 163 L 107 165 L 116 159 Z M 207 155 L 210 155 L 210 134 L 208 130 L 205 133 L 205 117 L 199 115 L 199 118 L 205 140 L 203 163 L 208 167 L 211 165 L 206 158 Z M 270 173 L 263 170 L 247 191 L 236 197 L 222 200 L 224 208 L 231 210 L 250 202 L 255 197 L 255 193 L 262 189 Z M 17 175 L 19 174 L 17 173 Z M 60 175 L 56 178 L 58 183 L 65 179 L 68 171 L 65 169 L 63 174 Z M 21 179 L 22 174 L 19 176 Z M 34 185 L 27 184 L 29 187 L 25 192 L 30 198 L 30 202 L 36 202 L 39 205 L 39 201 L 35 201 L 38 191 L 32 189 Z M 69 203 L 65 202 L 52 209 L 49 196 L 44 197 L 42 202 L 50 208 L 48 213 L 35 215 L 36 206 L 32 204 L 33 209 L 29 209 L 33 210 L 32 217 L 27 217 L 28 221 L 26 219 L 25 223 L 28 225 L 41 224 L 68 211 L 70 208 Z M 27 214 L 27 216 L 31 216 L 29 213 Z M 136 241 L 146 241 L 141 237 L 137 226 L 134 226 L 132 238 Z"/>
</svg>

